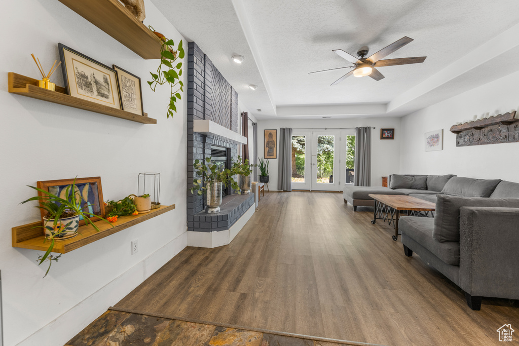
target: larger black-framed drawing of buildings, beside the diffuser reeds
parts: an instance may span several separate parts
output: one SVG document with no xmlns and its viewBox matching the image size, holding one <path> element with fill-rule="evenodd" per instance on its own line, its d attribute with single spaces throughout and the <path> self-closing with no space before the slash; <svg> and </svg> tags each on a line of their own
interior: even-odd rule
<svg viewBox="0 0 519 346">
<path fill-rule="evenodd" d="M 58 47 L 69 95 L 121 109 L 117 71 L 61 43 Z"/>
</svg>

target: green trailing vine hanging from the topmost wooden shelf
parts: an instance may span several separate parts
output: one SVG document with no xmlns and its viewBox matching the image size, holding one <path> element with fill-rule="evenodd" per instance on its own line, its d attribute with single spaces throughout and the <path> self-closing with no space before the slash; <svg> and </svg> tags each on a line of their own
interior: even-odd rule
<svg viewBox="0 0 519 346">
<path fill-rule="evenodd" d="M 176 112 L 176 101 L 181 99 L 180 92 L 184 91 L 184 84 L 180 80 L 182 76 L 182 62 L 175 63 L 177 59 L 184 59 L 185 52 L 182 48 L 182 40 L 179 45 L 175 48 L 175 43 L 172 39 L 167 39 L 162 34 L 159 34 L 153 29 L 152 26 L 148 26 L 162 41 L 160 47 L 160 64 L 157 68 L 157 73 L 150 72 L 153 80 L 148 81 L 149 87 L 153 91 L 157 88 L 157 85 L 163 85 L 168 83 L 171 88 L 171 96 L 168 104 L 168 118 Z M 180 92 L 179 92 L 180 91 Z"/>
</svg>

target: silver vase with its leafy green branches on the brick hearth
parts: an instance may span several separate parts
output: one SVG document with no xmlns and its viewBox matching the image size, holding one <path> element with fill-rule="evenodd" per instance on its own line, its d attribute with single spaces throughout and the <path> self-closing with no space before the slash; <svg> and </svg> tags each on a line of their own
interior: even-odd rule
<svg viewBox="0 0 519 346">
<path fill-rule="evenodd" d="M 221 163 L 211 161 L 210 157 L 206 158 L 205 162 L 195 160 L 193 167 L 201 178 L 193 179 L 193 187 L 189 190 L 191 193 L 197 191 L 198 195 L 206 195 L 206 213 L 220 213 L 222 186 L 230 184 L 233 189 L 239 189 L 238 183 L 232 177 L 233 173 L 225 169 Z"/>
</svg>

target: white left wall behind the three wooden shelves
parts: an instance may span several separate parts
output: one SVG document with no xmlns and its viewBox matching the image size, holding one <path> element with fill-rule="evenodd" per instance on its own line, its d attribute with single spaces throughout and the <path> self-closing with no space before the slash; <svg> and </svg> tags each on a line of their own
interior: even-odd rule
<svg viewBox="0 0 519 346">
<path fill-rule="evenodd" d="M 182 38 L 150 1 L 145 5 L 145 24 L 152 24 L 175 43 Z M 62 345 L 186 246 L 185 97 L 177 105 L 179 113 L 167 119 L 169 88 L 153 93 L 146 83 L 158 60 L 142 59 L 58 1 L 3 2 L 3 10 L 0 270 L 4 342 L 9 346 Z M 59 60 L 58 43 L 140 76 L 144 110 L 157 124 L 7 92 L 8 72 L 38 78 L 30 54 L 39 57 L 48 70 L 54 59 Z M 61 67 L 51 80 L 63 86 Z M 39 211 L 32 207 L 35 203 L 19 205 L 35 196 L 26 185 L 101 176 L 104 199 L 116 200 L 136 192 L 139 172 L 161 173 L 160 202 L 175 203 L 175 210 L 63 255 L 45 279 L 46 267 L 36 263 L 42 252 L 11 247 L 11 227 L 39 219 Z M 132 256 L 134 239 L 139 239 L 139 252 Z M 63 328 L 56 331 L 60 323 Z"/>
</svg>

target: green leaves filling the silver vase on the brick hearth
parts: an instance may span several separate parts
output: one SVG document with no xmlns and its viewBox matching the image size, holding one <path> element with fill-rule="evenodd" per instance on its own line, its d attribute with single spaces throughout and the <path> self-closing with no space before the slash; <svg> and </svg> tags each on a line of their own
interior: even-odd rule
<svg viewBox="0 0 519 346">
<path fill-rule="evenodd" d="M 205 161 L 195 160 L 193 163 L 195 172 L 200 178 L 193 179 L 193 187 L 189 190 L 191 193 L 207 193 L 207 187 L 212 183 L 222 182 L 225 186 L 230 186 L 239 190 L 238 183 L 233 178 L 233 172 L 223 167 L 221 163 L 211 161 L 211 157 L 207 157 Z M 202 183 L 203 182 L 203 183 Z M 238 191 L 238 193 L 240 193 Z"/>
</svg>

